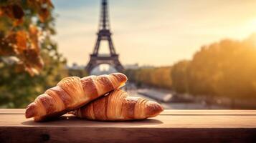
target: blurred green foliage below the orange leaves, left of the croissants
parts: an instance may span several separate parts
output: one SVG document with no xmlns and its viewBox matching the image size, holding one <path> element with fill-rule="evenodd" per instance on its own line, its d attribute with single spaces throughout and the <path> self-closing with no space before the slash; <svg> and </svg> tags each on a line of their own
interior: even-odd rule
<svg viewBox="0 0 256 143">
<path fill-rule="evenodd" d="M 39 94 L 67 77 L 64 63 L 53 59 L 47 51 L 42 51 L 42 57 L 46 66 L 34 77 L 26 71 L 17 73 L 14 65 L 0 62 L 0 107 L 24 108 Z"/>
</svg>

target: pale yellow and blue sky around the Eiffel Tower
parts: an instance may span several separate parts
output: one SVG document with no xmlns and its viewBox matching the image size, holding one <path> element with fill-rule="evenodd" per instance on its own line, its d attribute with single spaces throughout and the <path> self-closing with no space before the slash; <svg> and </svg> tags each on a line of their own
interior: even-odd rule
<svg viewBox="0 0 256 143">
<path fill-rule="evenodd" d="M 53 0 L 59 51 L 86 65 L 97 39 L 100 0 Z M 256 0 L 109 0 L 110 29 L 122 64 L 169 66 L 201 46 L 256 32 Z M 106 42 L 100 53 L 106 53 Z"/>
</svg>

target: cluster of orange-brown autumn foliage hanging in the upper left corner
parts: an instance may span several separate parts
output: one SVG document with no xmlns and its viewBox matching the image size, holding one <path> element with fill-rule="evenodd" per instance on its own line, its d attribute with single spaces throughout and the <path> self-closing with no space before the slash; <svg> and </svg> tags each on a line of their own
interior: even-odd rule
<svg viewBox="0 0 256 143">
<path fill-rule="evenodd" d="M 40 41 L 53 33 L 52 8 L 50 0 L 0 2 L 0 56 L 15 58 L 19 71 L 42 71 Z"/>
</svg>

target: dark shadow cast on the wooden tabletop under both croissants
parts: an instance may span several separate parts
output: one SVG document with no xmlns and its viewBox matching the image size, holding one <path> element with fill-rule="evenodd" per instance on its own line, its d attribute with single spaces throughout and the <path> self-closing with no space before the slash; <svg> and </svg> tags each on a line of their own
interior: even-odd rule
<svg viewBox="0 0 256 143">
<path fill-rule="evenodd" d="M 80 119 L 73 115 L 65 114 L 62 117 L 51 119 L 47 122 L 34 122 L 33 119 L 29 121 L 22 122 L 23 125 L 32 127 L 41 126 L 52 126 L 52 127 L 141 127 L 148 125 L 158 125 L 163 124 L 163 122 L 158 119 L 143 119 L 143 120 L 133 120 L 133 121 L 118 121 L 118 122 L 102 122 L 93 121 L 87 119 Z"/>
</svg>

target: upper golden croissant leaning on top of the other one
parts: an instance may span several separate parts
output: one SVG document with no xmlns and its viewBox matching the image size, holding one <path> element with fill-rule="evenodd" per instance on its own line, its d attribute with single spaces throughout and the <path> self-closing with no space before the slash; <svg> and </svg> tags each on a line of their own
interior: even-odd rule
<svg viewBox="0 0 256 143">
<path fill-rule="evenodd" d="M 115 73 L 101 76 L 66 77 L 56 87 L 47 89 L 26 109 L 26 118 L 34 117 L 35 122 L 57 117 L 82 107 L 87 102 L 122 87 L 127 81 L 124 74 Z"/>
</svg>

